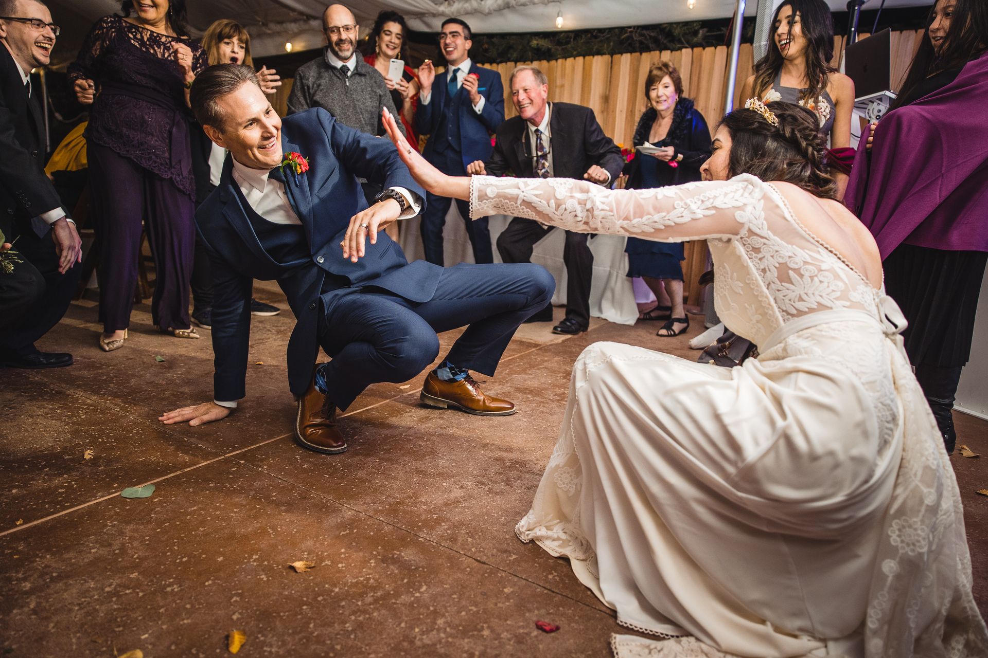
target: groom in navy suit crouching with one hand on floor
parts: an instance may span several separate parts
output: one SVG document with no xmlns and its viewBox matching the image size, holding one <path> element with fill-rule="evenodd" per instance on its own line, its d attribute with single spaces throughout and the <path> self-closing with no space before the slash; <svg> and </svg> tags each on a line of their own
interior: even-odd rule
<svg viewBox="0 0 988 658">
<path fill-rule="evenodd" d="M 297 318 L 288 385 L 303 448 L 346 450 L 336 410 L 371 384 L 414 377 L 439 354 L 436 333 L 465 325 L 426 377 L 421 402 L 515 412 L 512 402 L 486 396 L 468 371 L 493 375 L 518 326 L 548 303 L 554 283 L 545 269 L 409 263 L 383 229 L 418 214 L 425 194 L 394 145 L 321 109 L 282 119 L 249 66 L 210 66 L 190 100 L 206 135 L 230 155 L 196 213 L 213 273 L 214 399 L 160 420 L 219 420 L 244 397 L 255 278 L 277 280 Z M 384 188 L 371 207 L 358 177 Z M 313 368 L 320 346 L 333 359 Z"/>
</svg>

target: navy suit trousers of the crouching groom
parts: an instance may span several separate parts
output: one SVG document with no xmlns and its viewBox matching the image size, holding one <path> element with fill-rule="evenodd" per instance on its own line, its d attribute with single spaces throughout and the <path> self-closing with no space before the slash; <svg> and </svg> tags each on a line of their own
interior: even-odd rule
<svg viewBox="0 0 988 658">
<path fill-rule="evenodd" d="M 554 290 L 552 275 L 532 263 L 459 263 L 423 303 L 380 288 L 356 290 L 333 305 L 319 329 L 333 357 L 325 373 L 329 398 L 346 409 L 371 384 L 410 380 L 439 355 L 436 334 L 464 326 L 446 359 L 492 376 L 515 330 Z"/>
</svg>

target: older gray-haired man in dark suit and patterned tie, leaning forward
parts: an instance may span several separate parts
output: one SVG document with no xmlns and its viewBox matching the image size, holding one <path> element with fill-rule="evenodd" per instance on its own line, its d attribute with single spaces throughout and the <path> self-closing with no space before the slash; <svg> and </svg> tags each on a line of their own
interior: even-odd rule
<svg viewBox="0 0 988 658">
<path fill-rule="evenodd" d="M 518 110 L 497 130 L 497 143 L 487 162 L 467 166 L 468 174 L 520 178 L 586 179 L 606 185 L 620 174 L 620 149 L 604 134 L 594 110 L 570 103 L 548 103 L 548 81 L 535 66 L 519 66 L 511 74 L 511 98 Z M 498 236 L 497 249 L 504 262 L 529 262 L 535 243 L 551 227 L 516 217 Z M 566 231 L 563 262 L 566 263 L 566 317 L 553 333 L 580 333 L 590 325 L 590 281 L 594 255 L 588 234 Z M 529 322 L 551 322 L 552 307 Z"/>
</svg>

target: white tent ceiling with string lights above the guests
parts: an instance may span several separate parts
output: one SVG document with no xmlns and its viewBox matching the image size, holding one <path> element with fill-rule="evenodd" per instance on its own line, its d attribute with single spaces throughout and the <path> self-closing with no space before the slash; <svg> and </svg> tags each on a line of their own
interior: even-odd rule
<svg viewBox="0 0 988 658">
<path fill-rule="evenodd" d="M 762 0 L 768 2 L 769 0 Z M 46 0 L 53 20 L 63 27 L 65 48 L 56 45 L 55 60 L 75 55 L 82 35 L 96 19 L 120 10 L 116 0 Z M 759 0 L 748 0 L 746 16 L 754 16 Z M 831 8 L 845 11 L 846 0 L 828 0 Z M 290 41 L 295 50 L 324 43 L 321 16 L 328 0 L 189 0 L 194 34 L 202 34 L 220 18 L 232 18 L 247 28 L 255 54 L 285 52 Z M 556 16 L 563 30 L 679 23 L 729 18 L 736 0 L 353 0 L 348 4 L 362 28 L 370 28 L 382 9 L 400 12 L 412 30 L 438 32 L 443 19 L 462 18 L 476 33 L 548 32 L 555 30 Z M 877 9 L 869 0 L 864 9 Z M 886 0 L 885 7 L 929 5 L 931 0 Z M 363 34 L 363 30 L 362 30 Z M 66 51 L 66 49 L 68 51 Z M 60 52 L 58 50 L 61 50 Z"/>
</svg>

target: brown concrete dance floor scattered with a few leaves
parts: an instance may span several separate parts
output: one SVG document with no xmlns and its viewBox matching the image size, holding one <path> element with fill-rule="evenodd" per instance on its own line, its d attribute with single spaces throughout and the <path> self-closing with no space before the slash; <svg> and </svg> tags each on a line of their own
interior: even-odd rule
<svg viewBox="0 0 988 658">
<path fill-rule="evenodd" d="M 212 350 L 206 329 L 156 333 L 146 304 L 119 351 L 99 350 L 84 300 L 40 343 L 74 366 L 0 369 L 0 656 L 226 655 L 233 630 L 243 656 L 610 656 L 613 614 L 514 526 L 580 351 L 615 340 L 695 359 L 701 319 L 678 338 L 656 337 L 658 323 L 523 327 L 485 387 L 519 413 L 420 406 L 422 377 L 381 384 L 341 422 L 350 450 L 324 456 L 291 439 L 288 305 L 275 288 L 256 295 L 286 310 L 253 318 L 248 398 L 219 423 L 156 420 L 211 398 Z M 985 614 L 988 423 L 955 415 L 958 443 L 983 455 L 952 462 Z M 150 497 L 120 495 L 146 483 Z"/>
</svg>

